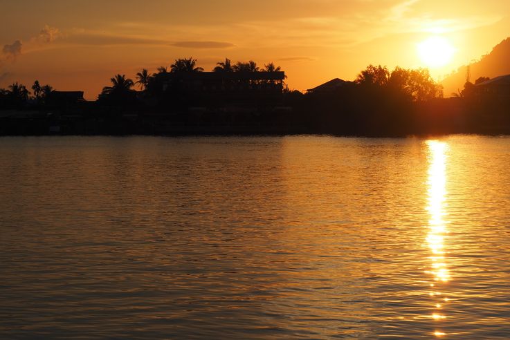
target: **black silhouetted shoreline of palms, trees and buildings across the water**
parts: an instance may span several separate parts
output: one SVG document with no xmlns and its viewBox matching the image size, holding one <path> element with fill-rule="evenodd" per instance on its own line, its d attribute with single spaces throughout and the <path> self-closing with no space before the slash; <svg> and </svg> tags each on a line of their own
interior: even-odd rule
<svg viewBox="0 0 510 340">
<path fill-rule="evenodd" d="M 0 89 L 0 134 L 331 133 L 399 136 L 509 133 L 507 97 L 482 83 L 443 98 L 426 69 L 367 66 L 353 82 L 334 79 L 293 91 L 275 64 L 176 59 L 155 73 L 115 75 L 95 102 L 35 81 Z M 138 91 L 137 91 L 138 90 Z"/>
</svg>

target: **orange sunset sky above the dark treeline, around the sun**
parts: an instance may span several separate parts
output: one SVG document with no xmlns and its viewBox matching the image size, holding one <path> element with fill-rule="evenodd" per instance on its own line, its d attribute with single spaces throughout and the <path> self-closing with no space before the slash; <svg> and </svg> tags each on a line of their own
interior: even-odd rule
<svg viewBox="0 0 510 340">
<path fill-rule="evenodd" d="M 369 64 L 430 67 L 430 37 L 453 57 L 430 68 L 441 79 L 510 36 L 502 0 L 0 0 L 0 88 L 38 79 L 94 100 L 117 73 L 134 79 L 176 58 L 212 70 L 226 57 L 282 67 L 306 91 Z"/>
</svg>

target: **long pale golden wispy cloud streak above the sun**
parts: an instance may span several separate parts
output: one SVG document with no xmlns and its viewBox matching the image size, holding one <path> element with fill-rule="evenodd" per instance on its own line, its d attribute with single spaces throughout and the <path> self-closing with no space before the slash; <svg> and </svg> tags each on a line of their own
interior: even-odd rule
<svg viewBox="0 0 510 340">
<path fill-rule="evenodd" d="M 370 1 L 366 1 L 371 4 Z M 375 39 L 417 33 L 457 32 L 489 26 L 501 15 L 466 11 L 432 12 L 426 1 L 372 1 L 373 6 L 353 10 L 349 15 L 289 17 L 268 24 L 260 21 L 236 23 L 230 38 L 250 48 L 345 48 L 352 49 Z M 216 32 L 226 37 L 224 32 Z"/>
</svg>

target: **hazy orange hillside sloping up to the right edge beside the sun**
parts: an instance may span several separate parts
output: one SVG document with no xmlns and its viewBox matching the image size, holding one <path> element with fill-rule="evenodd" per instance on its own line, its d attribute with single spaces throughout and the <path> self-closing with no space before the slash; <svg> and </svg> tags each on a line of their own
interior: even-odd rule
<svg viewBox="0 0 510 340">
<path fill-rule="evenodd" d="M 471 82 L 480 77 L 498 77 L 510 74 L 510 37 L 495 46 L 491 53 L 484 55 L 480 61 L 471 64 Z M 441 84 L 444 86 L 444 95 L 449 97 L 457 90 L 462 91 L 466 82 L 466 66 L 459 68 L 457 73 L 446 77 Z"/>
</svg>

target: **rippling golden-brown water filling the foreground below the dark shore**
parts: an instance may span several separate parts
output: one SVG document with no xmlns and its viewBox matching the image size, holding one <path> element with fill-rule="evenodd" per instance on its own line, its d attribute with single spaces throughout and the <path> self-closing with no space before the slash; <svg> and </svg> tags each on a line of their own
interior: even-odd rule
<svg viewBox="0 0 510 340">
<path fill-rule="evenodd" d="M 510 138 L 0 138 L 1 339 L 508 339 Z"/>
</svg>

